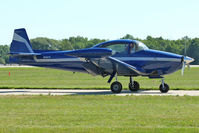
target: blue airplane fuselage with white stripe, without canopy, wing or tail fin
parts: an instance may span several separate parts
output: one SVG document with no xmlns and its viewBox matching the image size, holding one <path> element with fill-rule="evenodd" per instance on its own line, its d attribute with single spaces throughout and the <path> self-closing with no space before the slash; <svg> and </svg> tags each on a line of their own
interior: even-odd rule
<svg viewBox="0 0 199 133">
<path fill-rule="evenodd" d="M 88 73 L 82 66 L 86 62 L 83 58 L 67 56 L 64 54 L 64 51 L 41 52 L 37 50 L 35 52 L 40 52 L 41 55 L 36 55 L 33 58 L 13 57 L 10 60 L 18 64 Z M 115 54 L 112 57 L 139 68 L 144 73 L 141 76 L 148 76 L 155 71 L 159 75 L 165 75 L 182 68 L 182 55 L 157 50 L 141 50 L 129 55 Z M 108 67 L 106 63 L 108 62 L 104 62 L 105 67 Z M 121 74 L 118 73 L 118 75 Z M 129 75 L 125 74 L 123 76 Z"/>
</svg>

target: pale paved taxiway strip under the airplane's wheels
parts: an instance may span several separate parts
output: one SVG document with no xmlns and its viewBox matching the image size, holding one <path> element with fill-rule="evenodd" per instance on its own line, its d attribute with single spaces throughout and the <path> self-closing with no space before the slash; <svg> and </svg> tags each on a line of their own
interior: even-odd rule
<svg viewBox="0 0 199 133">
<path fill-rule="evenodd" d="M 199 90 L 170 90 L 168 93 L 161 93 L 159 90 L 139 90 L 130 92 L 123 90 L 119 94 L 114 94 L 111 90 L 39 90 L 39 89 L 1 89 L 0 95 L 152 95 L 152 96 L 199 96 Z"/>
</svg>

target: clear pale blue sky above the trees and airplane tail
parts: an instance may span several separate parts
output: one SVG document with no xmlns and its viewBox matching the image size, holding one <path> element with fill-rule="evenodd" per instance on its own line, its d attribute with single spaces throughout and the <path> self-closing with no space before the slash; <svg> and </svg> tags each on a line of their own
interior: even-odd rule
<svg viewBox="0 0 199 133">
<path fill-rule="evenodd" d="M 0 44 L 25 28 L 30 39 L 199 37 L 199 0 L 0 0 Z"/>
</svg>

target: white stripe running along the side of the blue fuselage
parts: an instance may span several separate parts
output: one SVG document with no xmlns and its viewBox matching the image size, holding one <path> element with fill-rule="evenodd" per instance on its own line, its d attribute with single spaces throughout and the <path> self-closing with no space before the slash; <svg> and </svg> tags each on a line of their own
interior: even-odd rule
<svg viewBox="0 0 199 133">
<path fill-rule="evenodd" d="M 172 61 L 180 62 L 181 59 L 177 58 L 163 58 L 163 57 L 113 57 L 121 61 Z M 36 62 L 69 62 L 69 61 L 85 61 L 84 58 L 57 58 L 57 59 L 37 59 L 34 57 Z"/>
</svg>

